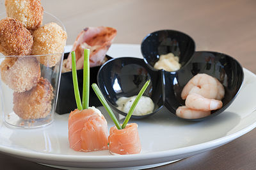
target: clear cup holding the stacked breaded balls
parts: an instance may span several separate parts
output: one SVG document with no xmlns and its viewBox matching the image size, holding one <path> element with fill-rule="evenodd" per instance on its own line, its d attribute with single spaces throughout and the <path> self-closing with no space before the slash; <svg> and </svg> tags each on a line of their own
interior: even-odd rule
<svg viewBox="0 0 256 170">
<path fill-rule="evenodd" d="M 6 15 L 0 15 L 0 20 Z M 43 25 L 56 22 L 56 17 L 44 12 Z M 1 56 L 0 107 L 7 125 L 37 128 L 54 121 L 60 87 L 63 53 L 37 56 Z M 52 58 L 57 63 L 52 66 Z"/>
</svg>

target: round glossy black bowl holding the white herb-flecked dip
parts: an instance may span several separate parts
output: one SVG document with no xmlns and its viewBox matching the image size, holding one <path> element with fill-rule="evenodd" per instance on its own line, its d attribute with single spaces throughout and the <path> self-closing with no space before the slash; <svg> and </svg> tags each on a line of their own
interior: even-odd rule
<svg viewBox="0 0 256 170">
<path fill-rule="evenodd" d="M 163 107 L 163 84 L 161 72 L 148 68 L 143 59 L 115 58 L 106 62 L 99 70 L 98 85 L 113 111 L 124 116 L 127 113 L 118 110 L 116 100 L 120 97 L 138 95 L 148 79 L 151 80 L 144 96 L 150 97 L 154 104 L 154 111 L 143 116 L 132 115 L 132 118 L 141 119 L 150 116 Z"/>
</svg>

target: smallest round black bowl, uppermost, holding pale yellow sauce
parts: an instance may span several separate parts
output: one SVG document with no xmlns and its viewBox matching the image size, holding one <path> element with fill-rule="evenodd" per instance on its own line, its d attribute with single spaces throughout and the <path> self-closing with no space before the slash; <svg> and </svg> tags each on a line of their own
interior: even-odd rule
<svg viewBox="0 0 256 170">
<path fill-rule="evenodd" d="M 160 55 L 170 52 L 178 56 L 179 63 L 184 66 L 195 52 L 195 42 L 182 32 L 166 29 L 148 34 L 141 43 L 144 61 L 152 70 L 156 70 L 154 65 Z"/>
</svg>

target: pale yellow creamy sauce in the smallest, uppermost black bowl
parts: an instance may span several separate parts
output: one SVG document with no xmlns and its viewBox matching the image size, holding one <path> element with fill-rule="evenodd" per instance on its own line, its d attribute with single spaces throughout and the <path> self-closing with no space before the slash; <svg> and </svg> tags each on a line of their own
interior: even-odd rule
<svg viewBox="0 0 256 170">
<path fill-rule="evenodd" d="M 160 56 L 159 61 L 156 62 L 154 68 L 158 70 L 165 70 L 173 72 L 180 69 L 179 57 L 174 56 L 172 52 Z"/>
</svg>

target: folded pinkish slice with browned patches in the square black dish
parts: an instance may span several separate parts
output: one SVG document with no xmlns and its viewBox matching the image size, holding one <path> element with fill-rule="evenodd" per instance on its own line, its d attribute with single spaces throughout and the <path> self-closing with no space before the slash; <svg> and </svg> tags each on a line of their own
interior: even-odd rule
<svg viewBox="0 0 256 170">
<path fill-rule="evenodd" d="M 72 50 L 76 52 L 77 70 L 83 68 L 83 51 L 90 49 L 90 66 L 100 66 L 106 61 L 106 52 L 116 36 L 113 27 L 86 27 L 79 33 Z M 71 54 L 63 61 L 63 72 L 69 72 L 72 67 Z"/>
</svg>

